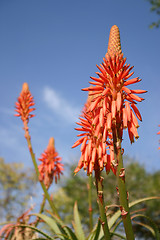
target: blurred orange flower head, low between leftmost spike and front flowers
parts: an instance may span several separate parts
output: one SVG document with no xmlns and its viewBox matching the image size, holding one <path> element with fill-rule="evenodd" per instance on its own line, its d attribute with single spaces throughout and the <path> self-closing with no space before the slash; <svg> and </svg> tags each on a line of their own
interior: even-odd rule
<svg viewBox="0 0 160 240">
<path fill-rule="evenodd" d="M 58 153 L 54 147 L 54 138 L 51 137 L 47 146 L 47 149 L 42 153 L 39 160 L 42 162 L 39 166 L 39 179 L 44 181 L 46 188 L 48 189 L 55 178 L 60 179 L 60 175 L 63 174 L 63 164 L 61 158 L 58 157 Z"/>
</svg>

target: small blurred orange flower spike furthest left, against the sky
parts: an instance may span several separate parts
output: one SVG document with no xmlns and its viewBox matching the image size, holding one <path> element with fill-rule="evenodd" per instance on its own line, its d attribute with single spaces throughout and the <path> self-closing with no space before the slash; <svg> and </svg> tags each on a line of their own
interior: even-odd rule
<svg viewBox="0 0 160 240">
<path fill-rule="evenodd" d="M 15 111 L 17 114 L 15 114 L 15 116 L 21 117 L 23 122 L 27 121 L 28 123 L 29 118 L 35 116 L 34 114 L 31 114 L 35 108 L 33 108 L 34 100 L 27 83 L 23 83 L 22 91 L 17 100 L 18 101 L 15 104 Z"/>
</svg>

